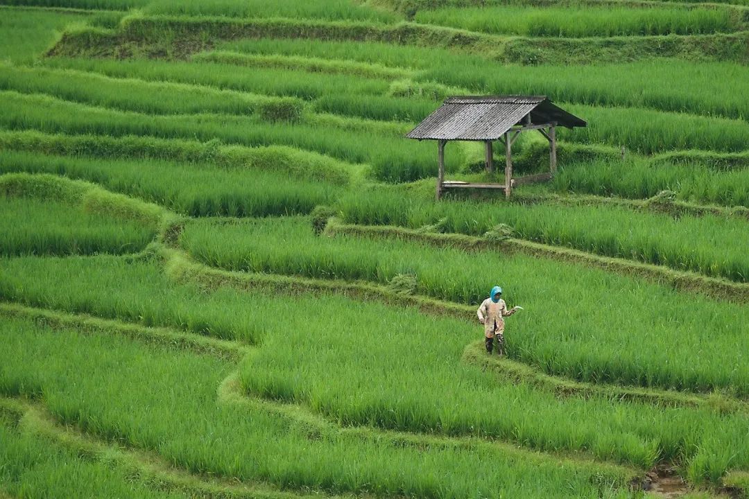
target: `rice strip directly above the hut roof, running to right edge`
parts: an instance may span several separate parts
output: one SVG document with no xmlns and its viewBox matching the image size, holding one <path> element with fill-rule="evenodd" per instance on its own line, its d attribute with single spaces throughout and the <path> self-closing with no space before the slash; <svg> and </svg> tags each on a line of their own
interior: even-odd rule
<svg viewBox="0 0 749 499">
<path fill-rule="evenodd" d="M 742 64 L 658 58 L 624 64 L 512 66 L 479 58 L 440 58 L 420 81 L 487 94 L 548 95 L 601 106 L 749 118 L 749 70 Z"/>
</svg>

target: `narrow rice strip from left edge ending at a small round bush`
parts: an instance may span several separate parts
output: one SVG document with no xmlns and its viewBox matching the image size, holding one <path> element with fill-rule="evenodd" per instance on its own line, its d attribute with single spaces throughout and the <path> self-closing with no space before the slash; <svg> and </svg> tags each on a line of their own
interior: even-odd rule
<svg viewBox="0 0 749 499">
<path fill-rule="evenodd" d="M 299 120 L 303 102 L 194 85 L 113 79 L 74 70 L 0 66 L 0 89 L 151 114 L 215 112 Z"/>
</svg>

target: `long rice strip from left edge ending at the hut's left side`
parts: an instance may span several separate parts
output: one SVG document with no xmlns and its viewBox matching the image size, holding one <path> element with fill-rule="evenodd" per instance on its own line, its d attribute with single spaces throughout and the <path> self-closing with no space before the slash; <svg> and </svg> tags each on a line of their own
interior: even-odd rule
<svg viewBox="0 0 749 499">
<path fill-rule="evenodd" d="M 436 147 L 386 135 L 345 129 L 322 130 L 306 123 L 266 123 L 253 117 L 216 114 L 152 116 L 94 108 L 43 96 L 0 92 L 0 124 L 10 129 L 122 137 L 189 138 L 245 146 L 288 145 L 313 150 L 346 162 L 369 163 L 380 180 L 414 180 L 434 174 Z M 432 149 L 434 147 L 434 149 Z M 455 171 L 461 156 L 448 156 Z"/>
</svg>

